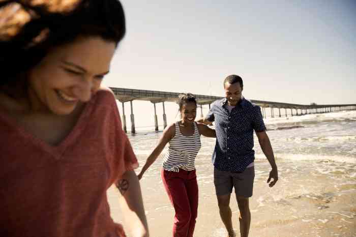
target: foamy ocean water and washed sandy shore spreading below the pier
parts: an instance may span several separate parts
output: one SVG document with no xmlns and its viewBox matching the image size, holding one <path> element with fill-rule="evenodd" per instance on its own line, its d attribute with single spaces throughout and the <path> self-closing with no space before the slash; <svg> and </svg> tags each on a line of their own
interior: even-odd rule
<svg viewBox="0 0 356 237">
<path fill-rule="evenodd" d="M 250 198 L 250 236 L 356 236 L 356 111 L 265 119 L 279 169 L 275 187 L 266 184 L 270 165 L 255 136 L 255 182 Z M 151 131 L 154 129 L 152 128 Z M 140 167 L 162 132 L 129 135 Z M 195 165 L 199 186 L 194 236 L 226 236 L 213 183 L 215 138 L 202 137 Z M 166 147 L 167 149 L 167 147 Z M 171 236 L 174 210 L 160 178 L 166 149 L 140 181 L 151 236 Z M 138 168 L 137 173 L 141 168 Z M 124 221 L 108 191 L 112 217 Z M 234 194 L 230 206 L 239 232 Z M 125 222 L 124 222 L 125 223 Z"/>
</svg>

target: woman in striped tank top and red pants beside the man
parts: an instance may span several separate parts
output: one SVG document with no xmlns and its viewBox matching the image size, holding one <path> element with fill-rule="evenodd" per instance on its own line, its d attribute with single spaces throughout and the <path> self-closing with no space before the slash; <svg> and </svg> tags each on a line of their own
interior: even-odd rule
<svg viewBox="0 0 356 237">
<path fill-rule="evenodd" d="M 197 102 L 190 94 L 179 96 L 182 120 L 167 126 L 151 155 L 147 158 L 138 179 L 156 161 L 164 146 L 169 149 L 161 172 L 164 187 L 174 207 L 173 237 L 193 236 L 198 210 L 198 184 L 195 157 L 201 146 L 200 135 L 216 137 L 215 130 L 194 122 Z"/>
</svg>

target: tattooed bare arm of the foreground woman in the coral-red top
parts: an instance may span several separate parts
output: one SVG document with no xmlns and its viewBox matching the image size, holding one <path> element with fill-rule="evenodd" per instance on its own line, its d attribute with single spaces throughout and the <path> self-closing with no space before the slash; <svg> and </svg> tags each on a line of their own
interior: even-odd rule
<svg viewBox="0 0 356 237">
<path fill-rule="evenodd" d="M 144 213 L 140 184 L 135 171 L 126 171 L 116 187 L 121 193 L 120 206 L 125 220 L 125 229 L 130 236 L 149 237 L 149 228 Z"/>
</svg>

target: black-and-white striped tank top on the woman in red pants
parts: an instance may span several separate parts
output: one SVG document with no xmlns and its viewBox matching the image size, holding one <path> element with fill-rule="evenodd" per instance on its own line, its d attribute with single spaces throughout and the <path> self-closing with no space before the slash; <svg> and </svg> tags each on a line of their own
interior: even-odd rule
<svg viewBox="0 0 356 237">
<path fill-rule="evenodd" d="M 201 147 L 197 124 L 194 122 L 193 135 L 184 136 L 178 123 L 175 122 L 175 135 L 169 141 L 168 152 L 163 159 L 163 169 L 174 172 L 179 172 L 179 169 L 194 170 L 195 157 Z"/>
</svg>

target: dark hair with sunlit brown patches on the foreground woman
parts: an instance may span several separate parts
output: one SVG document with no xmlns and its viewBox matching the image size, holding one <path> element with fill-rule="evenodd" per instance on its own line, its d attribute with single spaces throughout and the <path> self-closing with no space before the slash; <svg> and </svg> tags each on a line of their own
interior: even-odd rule
<svg viewBox="0 0 356 237">
<path fill-rule="evenodd" d="M 125 32 L 117 0 L 0 0 L 0 86 L 37 65 L 53 46 L 78 36 L 118 44 Z"/>
</svg>

